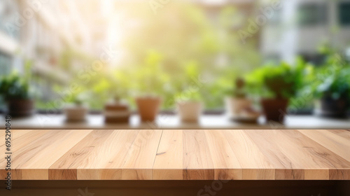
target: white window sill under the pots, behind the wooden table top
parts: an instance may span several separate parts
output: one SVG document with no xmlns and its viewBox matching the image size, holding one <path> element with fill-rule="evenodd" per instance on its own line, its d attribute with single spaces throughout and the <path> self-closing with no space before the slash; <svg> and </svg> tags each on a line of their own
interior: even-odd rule
<svg viewBox="0 0 350 196">
<path fill-rule="evenodd" d="M 3 118 L 4 119 L 4 118 Z M 5 127 L 5 120 L 0 123 Z M 119 130 L 172 130 L 172 129 L 222 129 L 222 130 L 279 130 L 279 129 L 350 129 L 350 119 L 331 119 L 317 116 L 287 116 L 284 125 L 280 123 L 265 122 L 260 118 L 258 123 L 237 123 L 230 120 L 228 116 L 223 115 L 203 115 L 199 123 L 181 123 L 179 116 L 170 114 L 160 114 L 155 123 L 141 123 L 139 116 L 134 114 L 130 117 L 129 123 L 125 124 L 106 124 L 104 116 L 101 114 L 90 114 L 84 122 L 70 123 L 66 122 L 64 115 L 43 115 L 36 114 L 29 118 L 14 118 L 11 121 L 13 130 L 20 129 L 119 129 Z"/>
</svg>

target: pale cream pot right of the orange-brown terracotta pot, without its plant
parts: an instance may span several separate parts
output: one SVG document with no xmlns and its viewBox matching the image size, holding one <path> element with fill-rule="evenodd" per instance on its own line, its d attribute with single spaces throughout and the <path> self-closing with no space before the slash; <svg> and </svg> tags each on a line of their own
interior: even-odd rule
<svg viewBox="0 0 350 196">
<path fill-rule="evenodd" d="M 202 113 L 202 103 L 196 101 L 177 103 L 179 115 L 183 122 L 198 122 Z"/>
</svg>

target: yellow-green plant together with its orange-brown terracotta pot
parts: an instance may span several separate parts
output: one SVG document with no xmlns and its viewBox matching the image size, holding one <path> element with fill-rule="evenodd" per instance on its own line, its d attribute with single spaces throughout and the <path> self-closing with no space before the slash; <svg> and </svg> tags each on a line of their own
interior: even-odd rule
<svg viewBox="0 0 350 196">
<path fill-rule="evenodd" d="M 161 69 L 162 57 L 158 52 L 150 52 L 145 66 L 136 73 L 138 96 L 135 99 L 142 122 L 154 121 L 162 104 L 161 94 L 169 78 Z"/>
</svg>

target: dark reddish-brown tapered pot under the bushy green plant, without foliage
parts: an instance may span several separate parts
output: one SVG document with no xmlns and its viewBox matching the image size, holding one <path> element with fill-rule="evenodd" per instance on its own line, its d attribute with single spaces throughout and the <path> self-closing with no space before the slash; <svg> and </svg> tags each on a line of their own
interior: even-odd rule
<svg viewBox="0 0 350 196">
<path fill-rule="evenodd" d="M 261 105 L 267 121 L 284 122 L 288 99 L 262 99 Z"/>
</svg>

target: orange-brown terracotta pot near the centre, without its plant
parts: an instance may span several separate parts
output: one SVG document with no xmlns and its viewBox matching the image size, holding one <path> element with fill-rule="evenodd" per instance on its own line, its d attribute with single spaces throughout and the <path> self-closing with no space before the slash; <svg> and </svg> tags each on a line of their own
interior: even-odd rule
<svg viewBox="0 0 350 196">
<path fill-rule="evenodd" d="M 141 121 L 154 121 L 160 109 L 160 97 L 139 97 L 136 99 Z"/>
</svg>

